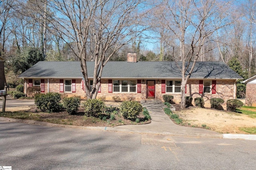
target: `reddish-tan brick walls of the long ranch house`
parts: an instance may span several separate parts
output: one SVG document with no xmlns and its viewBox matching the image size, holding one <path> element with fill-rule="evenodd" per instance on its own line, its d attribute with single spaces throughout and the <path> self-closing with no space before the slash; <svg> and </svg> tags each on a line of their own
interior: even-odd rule
<svg viewBox="0 0 256 170">
<path fill-rule="evenodd" d="M 68 96 L 74 96 L 78 95 L 81 96 L 82 99 L 86 99 L 86 95 L 84 91 L 81 89 L 81 80 L 82 79 L 76 79 L 76 93 L 66 93 Z M 155 80 L 155 99 L 160 99 L 163 101 L 162 96 L 165 94 L 173 95 L 174 96 L 174 102 L 180 103 L 181 101 L 181 94 L 180 93 L 162 93 L 162 84 L 161 80 Z M 145 80 L 146 82 L 146 80 Z M 26 79 L 25 83 L 27 83 L 28 87 L 28 79 Z M 48 93 L 48 79 L 44 80 L 44 87 L 45 87 L 45 93 Z M 199 94 L 199 80 L 188 80 L 187 82 L 187 93 L 186 96 L 193 97 L 194 99 L 196 97 L 203 97 L 205 106 L 210 107 L 210 99 L 211 98 L 222 98 L 225 103 L 222 105 L 224 109 L 226 109 L 226 101 L 228 99 L 234 99 L 234 91 L 236 96 L 236 86 L 234 85 L 235 80 L 217 80 L 216 81 L 216 94 L 206 93 L 206 94 Z M 247 87 L 246 87 L 247 88 Z M 49 79 L 49 89 L 50 92 L 60 92 L 60 80 L 59 79 Z M 26 89 L 24 89 L 26 91 Z M 254 91 L 254 93 L 256 90 Z M 136 101 L 146 100 L 146 83 L 141 84 L 141 93 L 108 93 L 108 79 L 102 79 L 101 80 L 101 93 L 98 93 L 97 98 L 99 97 L 105 97 L 106 100 L 113 100 L 112 97 L 118 95 L 123 101 L 128 100 L 129 97 L 135 97 Z"/>
</svg>

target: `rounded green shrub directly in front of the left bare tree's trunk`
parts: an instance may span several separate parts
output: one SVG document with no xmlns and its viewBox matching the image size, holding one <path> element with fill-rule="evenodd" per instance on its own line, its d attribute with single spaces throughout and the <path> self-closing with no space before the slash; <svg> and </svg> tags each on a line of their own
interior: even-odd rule
<svg viewBox="0 0 256 170">
<path fill-rule="evenodd" d="M 88 99 L 83 103 L 84 115 L 88 117 L 99 117 L 105 107 L 104 101 L 100 99 Z"/>
</svg>

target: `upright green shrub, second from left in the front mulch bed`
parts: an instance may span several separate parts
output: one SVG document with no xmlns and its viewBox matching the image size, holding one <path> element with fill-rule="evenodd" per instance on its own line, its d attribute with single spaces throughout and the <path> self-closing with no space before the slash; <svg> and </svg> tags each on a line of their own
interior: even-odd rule
<svg viewBox="0 0 256 170">
<path fill-rule="evenodd" d="M 75 114 L 80 106 L 81 99 L 78 96 L 66 97 L 62 99 L 63 107 L 66 109 L 68 114 Z"/>
</svg>

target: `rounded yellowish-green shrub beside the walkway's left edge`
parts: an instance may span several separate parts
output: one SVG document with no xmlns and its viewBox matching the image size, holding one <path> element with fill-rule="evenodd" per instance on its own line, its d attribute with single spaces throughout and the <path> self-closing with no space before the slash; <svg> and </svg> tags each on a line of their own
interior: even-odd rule
<svg viewBox="0 0 256 170">
<path fill-rule="evenodd" d="M 135 121 L 142 111 L 142 105 L 137 101 L 124 101 L 120 106 L 120 112 L 124 119 Z"/>
</svg>

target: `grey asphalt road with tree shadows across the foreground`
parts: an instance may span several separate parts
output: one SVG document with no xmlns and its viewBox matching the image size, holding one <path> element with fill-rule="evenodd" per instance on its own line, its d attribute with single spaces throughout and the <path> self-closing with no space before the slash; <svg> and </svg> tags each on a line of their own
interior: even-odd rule
<svg viewBox="0 0 256 170">
<path fill-rule="evenodd" d="M 256 142 L 0 121 L 0 166 L 45 169 L 255 169 Z"/>
</svg>

